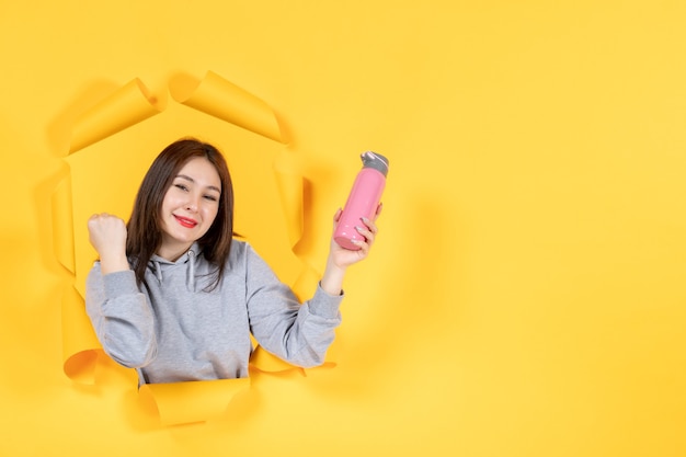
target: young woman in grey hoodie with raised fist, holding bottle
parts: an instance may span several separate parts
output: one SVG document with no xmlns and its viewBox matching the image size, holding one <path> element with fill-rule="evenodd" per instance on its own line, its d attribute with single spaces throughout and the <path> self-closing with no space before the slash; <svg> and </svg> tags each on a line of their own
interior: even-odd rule
<svg viewBox="0 0 686 457">
<path fill-rule="evenodd" d="M 345 271 L 367 256 L 377 232 L 374 220 L 361 220 L 366 241 L 357 251 L 332 239 L 315 295 L 298 302 L 248 242 L 233 239 L 229 170 L 196 139 L 157 157 L 128 224 L 103 213 L 88 229 L 99 254 L 88 315 L 104 351 L 136 368 L 140 384 L 247 377 L 250 334 L 286 362 L 320 365 L 341 322 Z"/>
</svg>

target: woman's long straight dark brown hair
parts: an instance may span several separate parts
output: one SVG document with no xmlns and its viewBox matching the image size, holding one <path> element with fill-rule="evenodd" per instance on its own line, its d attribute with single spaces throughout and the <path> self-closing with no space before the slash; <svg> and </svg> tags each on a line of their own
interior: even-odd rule
<svg viewBox="0 0 686 457">
<path fill-rule="evenodd" d="M 126 226 L 126 255 L 133 260 L 136 282 L 146 284 L 145 273 L 148 262 L 162 242 L 161 208 L 167 191 L 174 176 L 188 162 L 202 157 L 217 170 L 221 181 L 221 195 L 217 217 L 207 232 L 197 240 L 203 255 L 216 265 L 216 275 L 208 289 L 214 289 L 221 281 L 231 249 L 233 237 L 233 185 L 226 160 L 214 146 L 195 138 L 184 138 L 169 145 L 155 159 L 146 173 Z"/>
</svg>

